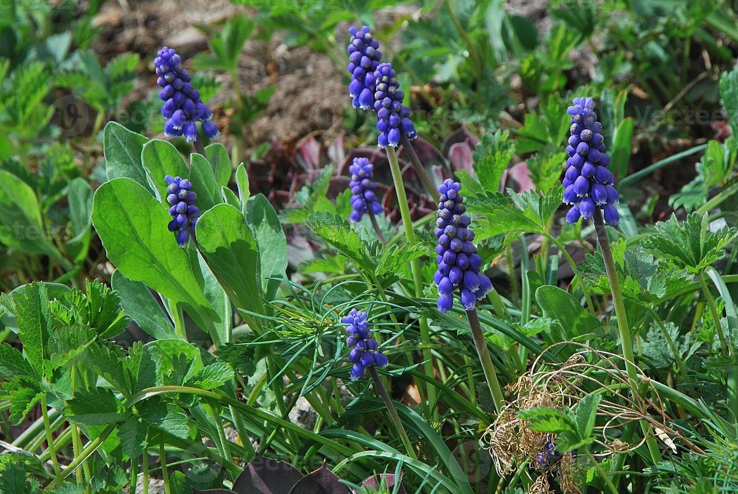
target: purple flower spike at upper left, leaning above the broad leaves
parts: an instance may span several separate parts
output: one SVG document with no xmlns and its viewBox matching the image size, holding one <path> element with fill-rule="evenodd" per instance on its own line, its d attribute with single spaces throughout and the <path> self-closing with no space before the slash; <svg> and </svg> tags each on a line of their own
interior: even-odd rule
<svg viewBox="0 0 738 494">
<path fill-rule="evenodd" d="M 182 68 L 182 58 L 173 48 L 163 47 L 156 52 L 156 83 L 162 86 L 159 97 L 164 101 L 162 116 L 167 119 L 164 133 L 168 137 L 181 137 L 187 142 L 197 139 L 197 122 L 209 138 L 218 136 L 218 126 L 213 122 L 213 112 L 200 99 L 200 93 L 190 83 L 187 69 Z"/>
</svg>

